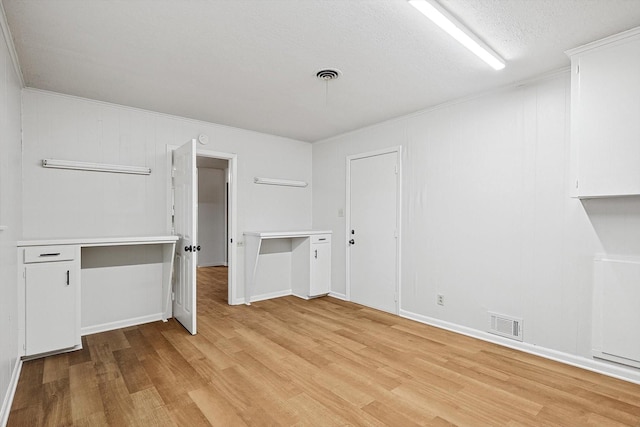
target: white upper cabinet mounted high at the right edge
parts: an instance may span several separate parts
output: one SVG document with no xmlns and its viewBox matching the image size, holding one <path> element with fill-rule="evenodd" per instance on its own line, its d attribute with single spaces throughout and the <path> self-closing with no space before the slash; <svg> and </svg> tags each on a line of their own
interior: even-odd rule
<svg viewBox="0 0 640 427">
<path fill-rule="evenodd" d="M 640 195 L 640 27 L 567 55 L 571 195 Z"/>
</svg>

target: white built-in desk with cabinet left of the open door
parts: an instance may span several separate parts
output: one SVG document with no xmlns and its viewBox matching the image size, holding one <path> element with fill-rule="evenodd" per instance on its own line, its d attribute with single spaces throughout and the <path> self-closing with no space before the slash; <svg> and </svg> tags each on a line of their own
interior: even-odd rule
<svg viewBox="0 0 640 427">
<path fill-rule="evenodd" d="M 20 356 L 40 357 L 82 348 L 82 335 L 171 317 L 171 278 L 178 236 L 106 237 L 18 242 Z M 81 268 L 83 248 L 161 245 L 162 312 L 144 318 L 82 328 Z M 147 260 L 147 258 L 145 258 Z M 105 259 L 108 265 L 109 260 Z M 103 266 L 103 267 L 104 267 Z M 83 279 L 86 279 L 84 277 Z M 107 281 L 94 285 L 109 286 Z M 95 310 L 95 307 L 90 307 Z M 105 306 L 104 310 L 110 310 Z M 114 308 L 115 310 L 115 308 Z"/>
</svg>

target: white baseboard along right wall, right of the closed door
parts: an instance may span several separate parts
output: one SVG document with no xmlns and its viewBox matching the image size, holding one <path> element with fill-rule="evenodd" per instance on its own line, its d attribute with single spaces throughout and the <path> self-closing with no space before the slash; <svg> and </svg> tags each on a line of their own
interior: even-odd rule
<svg viewBox="0 0 640 427">
<path fill-rule="evenodd" d="M 525 353 L 544 357 L 545 359 L 550 359 L 556 362 L 561 362 L 567 365 L 586 369 L 588 371 L 607 375 L 609 377 L 617 378 L 623 381 L 640 384 L 640 371 L 634 368 L 625 368 L 619 365 L 613 365 L 606 362 L 601 362 L 599 360 L 589 359 L 587 357 L 576 356 L 574 354 L 564 353 L 562 351 L 552 350 L 533 344 L 513 341 L 508 338 L 502 338 L 498 335 L 490 334 L 488 332 L 479 331 L 477 329 L 468 328 L 466 326 L 456 325 L 454 323 L 446 322 L 444 320 L 435 319 L 406 310 L 400 310 L 400 316 L 406 319 L 415 320 L 416 322 L 435 326 L 436 328 L 466 335 L 471 338 L 477 338 L 482 341 L 487 341 L 493 344 L 512 348 L 514 350 L 520 350 Z"/>
</svg>

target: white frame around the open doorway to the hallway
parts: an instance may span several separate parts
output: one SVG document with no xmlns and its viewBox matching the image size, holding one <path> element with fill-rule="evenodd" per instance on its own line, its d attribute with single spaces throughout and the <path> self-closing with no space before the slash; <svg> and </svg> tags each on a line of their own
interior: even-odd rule
<svg viewBox="0 0 640 427">
<path fill-rule="evenodd" d="M 172 152 L 178 145 L 167 144 L 167 223 L 166 228 L 169 234 L 173 234 L 172 230 L 172 209 L 173 209 L 173 183 L 172 183 Z M 229 162 L 229 205 L 228 205 L 228 234 L 227 234 L 227 303 L 229 305 L 242 304 L 238 298 L 235 298 L 237 281 L 238 281 L 238 155 L 235 153 L 224 153 L 221 151 L 207 150 L 202 147 L 196 147 L 197 157 L 210 157 L 214 159 L 227 160 Z M 194 204 L 198 201 L 194 201 Z M 196 206 L 194 206 L 194 209 Z"/>
</svg>

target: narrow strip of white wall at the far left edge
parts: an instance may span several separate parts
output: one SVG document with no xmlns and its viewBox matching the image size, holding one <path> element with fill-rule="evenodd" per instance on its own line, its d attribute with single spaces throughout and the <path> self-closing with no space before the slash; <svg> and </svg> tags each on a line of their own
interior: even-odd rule
<svg viewBox="0 0 640 427">
<path fill-rule="evenodd" d="M 2 23 L 4 25 L 4 23 Z M 16 241 L 22 232 L 21 82 L 0 35 L 0 425 L 18 356 L 18 273 Z M 16 380 L 16 378 L 14 378 Z"/>
</svg>

